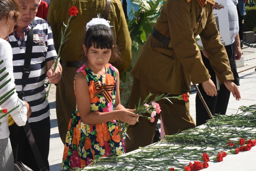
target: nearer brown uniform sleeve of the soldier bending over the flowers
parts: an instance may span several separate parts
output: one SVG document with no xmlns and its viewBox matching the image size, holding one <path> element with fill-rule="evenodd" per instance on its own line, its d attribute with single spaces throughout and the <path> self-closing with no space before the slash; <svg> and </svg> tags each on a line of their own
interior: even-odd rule
<svg viewBox="0 0 256 171">
<path fill-rule="evenodd" d="M 202 83 L 210 78 L 203 64 L 200 50 L 191 29 L 190 6 L 187 0 L 169 0 L 165 7 L 168 17 L 171 44 L 186 74 L 191 81 Z M 194 9 L 195 10 L 195 9 Z"/>
</svg>

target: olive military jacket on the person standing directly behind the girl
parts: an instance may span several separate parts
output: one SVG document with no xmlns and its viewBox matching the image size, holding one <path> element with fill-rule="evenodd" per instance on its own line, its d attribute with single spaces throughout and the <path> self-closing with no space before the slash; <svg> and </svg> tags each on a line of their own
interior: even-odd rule
<svg viewBox="0 0 256 171">
<path fill-rule="evenodd" d="M 63 22 L 67 24 L 68 9 L 76 6 L 77 16 L 73 16 L 67 32 L 71 31 L 69 40 L 65 42 L 61 50 L 61 60 L 65 62 L 79 61 L 84 58 L 82 44 L 86 32 L 86 24 L 97 18 L 97 14 L 103 18 L 106 0 L 52 0 L 49 6 L 48 22 L 51 25 L 56 51 L 61 42 L 61 29 L 64 31 Z M 120 0 L 111 0 L 108 16 L 110 25 L 114 26 L 113 33 L 116 37 L 121 52 L 121 64 L 117 67 L 119 73 L 124 73 L 131 65 L 131 38 L 126 24 L 124 11 Z M 111 62 L 111 61 L 110 61 Z"/>
</svg>

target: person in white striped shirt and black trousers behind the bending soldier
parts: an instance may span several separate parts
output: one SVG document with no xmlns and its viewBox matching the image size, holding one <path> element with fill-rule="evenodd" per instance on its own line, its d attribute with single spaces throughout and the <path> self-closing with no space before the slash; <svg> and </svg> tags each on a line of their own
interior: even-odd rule
<svg viewBox="0 0 256 171">
<path fill-rule="evenodd" d="M 235 60 L 240 60 L 242 51 L 240 47 L 240 39 L 239 39 L 239 24 L 238 24 L 238 14 L 236 11 L 236 4 L 238 0 L 227 0 L 228 7 L 228 17 L 229 17 L 229 31 L 231 42 L 225 45 L 225 49 L 228 54 L 229 64 L 231 67 L 231 71 L 233 73 L 234 81 L 233 83 L 236 86 L 239 86 L 239 76 L 236 71 L 236 63 Z M 211 79 L 216 85 L 216 75 L 213 67 L 210 65 L 210 61 L 208 59 L 207 51 L 202 50 L 201 52 L 202 60 L 204 62 L 205 67 L 208 69 Z M 224 85 L 220 85 L 220 90 L 216 96 L 209 96 L 205 93 L 202 84 L 199 84 L 199 90 L 209 108 L 211 113 L 225 115 L 228 107 L 228 102 L 230 98 L 230 91 Z M 234 96 L 234 94 L 233 94 Z M 206 109 L 201 102 L 199 95 L 196 94 L 195 98 L 195 109 L 196 109 L 196 126 L 200 126 L 206 122 L 206 120 L 210 119 L 207 114 Z"/>
</svg>

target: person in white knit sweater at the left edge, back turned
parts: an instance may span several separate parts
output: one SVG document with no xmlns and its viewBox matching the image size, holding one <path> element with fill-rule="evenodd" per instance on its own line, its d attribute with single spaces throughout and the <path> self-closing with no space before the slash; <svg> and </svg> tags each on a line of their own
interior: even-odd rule
<svg viewBox="0 0 256 171">
<path fill-rule="evenodd" d="M 11 34 L 17 27 L 17 19 L 20 19 L 20 9 L 17 0 L 1 0 L 0 1 L 0 70 L 5 70 L 0 74 L 0 77 L 8 74 L 3 80 L 0 81 L 0 85 L 8 82 L 0 91 L 0 97 L 9 92 L 15 87 L 12 67 L 12 48 L 11 45 L 4 40 L 9 34 Z M 8 81 L 10 80 L 10 81 Z M 24 126 L 27 118 L 31 115 L 31 108 L 29 104 L 18 98 L 16 90 L 7 101 L 0 105 L 1 109 L 11 110 L 14 107 L 19 106 L 13 110 L 10 115 L 18 126 Z M 2 113 L 7 111 L 2 110 Z M 8 115 L 0 119 L 0 170 L 1 171 L 13 171 L 14 160 L 12 154 L 11 142 L 9 139 L 8 129 Z"/>
</svg>

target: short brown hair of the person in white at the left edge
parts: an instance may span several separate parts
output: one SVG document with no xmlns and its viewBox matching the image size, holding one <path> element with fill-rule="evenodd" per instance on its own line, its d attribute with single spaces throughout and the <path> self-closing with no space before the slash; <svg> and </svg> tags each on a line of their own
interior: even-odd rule
<svg viewBox="0 0 256 171">
<path fill-rule="evenodd" d="M 0 0 L 0 20 L 7 19 L 14 12 L 13 17 L 20 19 L 20 6 L 17 0 Z"/>
</svg>

